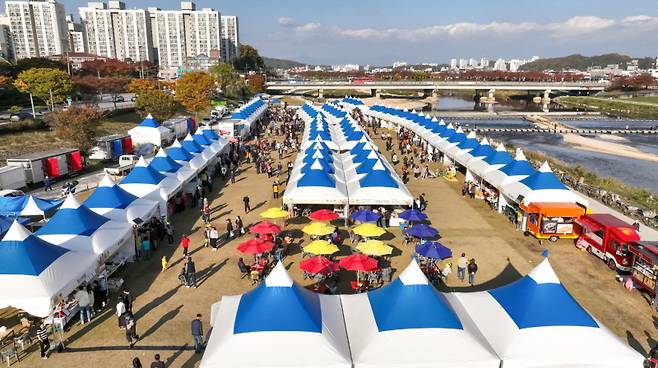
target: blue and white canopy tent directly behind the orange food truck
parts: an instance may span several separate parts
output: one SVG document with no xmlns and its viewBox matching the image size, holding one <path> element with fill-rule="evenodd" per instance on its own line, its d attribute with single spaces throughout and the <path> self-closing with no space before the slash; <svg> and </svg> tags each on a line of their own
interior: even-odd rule
<svg viewBox="0 0 658 368">
<path fill-rule="evenodd" d="M 579 203 L 585 208 L 589 202 L 571 191 L 558 179 L 548 162 L 527 178 L 504 185 L 501 192 L 512 201 L 528 205 L 540 202 Z"/>
</svg>

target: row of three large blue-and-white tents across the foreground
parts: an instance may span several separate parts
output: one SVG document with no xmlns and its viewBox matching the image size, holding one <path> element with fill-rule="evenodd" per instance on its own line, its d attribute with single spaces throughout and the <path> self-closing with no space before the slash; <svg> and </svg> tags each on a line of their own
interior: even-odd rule
<svg viewBox="0 0 658 368">
<path fill-rule="evenodd" d="M 493 290 L 441 293 L 415 260 L 390 284 L 321 295 L 281 263 L 212 306 L 201 367 L 639 367 L 643 357 L 567 292 L 548 258 Z"/>
</svg>

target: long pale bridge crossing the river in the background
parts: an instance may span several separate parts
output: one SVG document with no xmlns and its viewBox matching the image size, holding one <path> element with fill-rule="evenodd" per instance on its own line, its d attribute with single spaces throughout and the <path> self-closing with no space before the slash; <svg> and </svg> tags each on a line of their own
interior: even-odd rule
<svg viewBox="0 0 658 368">
<path fill-rule="evenodd" d="M 496 90 L 527 91 L 529 94 L 533 92 L 537 94 L 543 93 L 544 98 L 549 98 L 551 93 L 578 93 L 589 95 L 603 91 L 606 85 L 595 82 L 377 81 L 352 83 L 273 81 L 268 82 L 266 87 L 268 91 L 284 91 L 289 94 L 304 91 L 318 91 L 318 97 L 323 97 L 323 92 L 325 90 L 370 90 L 373 97 L 379 96 L 382 91 L 386 90 L 422 91 L 423 95 L 426 97 L 438 97 L 438 92 L 441 90 L 475 90 L 477 98 L 484 93 L 488 93 L 487 98 L 493 101 L 493 94 Z"/>
</svg>

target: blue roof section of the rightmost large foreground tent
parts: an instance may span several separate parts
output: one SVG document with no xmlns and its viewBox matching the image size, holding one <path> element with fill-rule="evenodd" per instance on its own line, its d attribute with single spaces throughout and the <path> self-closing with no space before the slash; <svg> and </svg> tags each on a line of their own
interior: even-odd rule
<svg viewBox="0 0 658 368">
<path fill-rule="evenodd" d="M 537 268 L 550 268 L 548 261 L 544 262 L 546 263 Z M 552 269 L 550 272 L 552 273 Z M 599 327 L 559 280 L 556 277 L 555 279 L 551 282 L 538 282 L 531 273 L 488 293 L 521 329 L 549 326 Z"/>
</svg>

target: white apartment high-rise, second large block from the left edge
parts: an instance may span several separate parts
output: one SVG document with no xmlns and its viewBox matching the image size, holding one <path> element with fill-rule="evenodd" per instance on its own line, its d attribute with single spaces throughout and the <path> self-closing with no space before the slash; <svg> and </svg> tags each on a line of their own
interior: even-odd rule
<svg viewBox="0 0 658 368">
<path fill-rule="evenodd" d="M 151 18 L 144 9 L 126 9 L 121 1 L 88 3 L 80 8 L 87 51 L 119 60 L 153 61 Z"/>
</svg>

